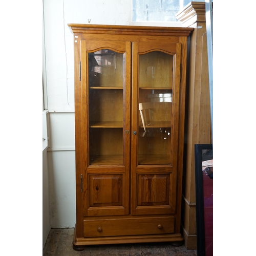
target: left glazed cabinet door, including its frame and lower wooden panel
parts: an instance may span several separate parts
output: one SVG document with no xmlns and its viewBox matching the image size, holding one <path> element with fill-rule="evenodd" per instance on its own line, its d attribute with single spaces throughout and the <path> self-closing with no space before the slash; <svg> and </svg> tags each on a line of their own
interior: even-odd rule
<svg viewBox="0 0 256 256">
<path fill-rule="evenodd" d="M 131 42 L 81 40 L 83 216 L 129 214 Z"/>
</svg>

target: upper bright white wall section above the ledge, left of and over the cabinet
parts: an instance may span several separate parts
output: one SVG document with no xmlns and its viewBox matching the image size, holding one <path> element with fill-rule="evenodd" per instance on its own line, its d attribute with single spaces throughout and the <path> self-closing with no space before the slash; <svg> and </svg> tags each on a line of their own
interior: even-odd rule
<svg viewBox="0 0 256 256">
<path fill-rule="evenodd" d="M 73 33 L 67 24 L 127 25 L 131 0 L 44 0 L 48 110 L 74 111 Z"/>
</svg>

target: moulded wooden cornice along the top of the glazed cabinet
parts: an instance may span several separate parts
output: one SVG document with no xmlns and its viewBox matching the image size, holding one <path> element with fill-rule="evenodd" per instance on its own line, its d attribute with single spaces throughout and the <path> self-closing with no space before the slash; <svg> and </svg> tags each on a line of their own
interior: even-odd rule
<svg viewBox="0 0 256 256">
<path fill-rule="evenodd" d="M 108 33 L 108 34 L 138 34 L 156 33 L 188 36 L 193 28 L 181 27 L 151 27 L 151 26 L 127 26 L 127 25 L 96 25 L 96 24 L 68 24 L 74 33 Z"/>
</svg>

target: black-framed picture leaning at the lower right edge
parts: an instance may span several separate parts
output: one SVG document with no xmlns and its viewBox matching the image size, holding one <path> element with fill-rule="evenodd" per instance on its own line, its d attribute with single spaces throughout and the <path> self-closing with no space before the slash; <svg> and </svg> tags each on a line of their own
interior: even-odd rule
<svg viewBox="0 0 256 256">
<path fill-rule="evenodd" d="M 195 144 L 197 255 L 213 255 L 213 150 Z"/>
</svg>

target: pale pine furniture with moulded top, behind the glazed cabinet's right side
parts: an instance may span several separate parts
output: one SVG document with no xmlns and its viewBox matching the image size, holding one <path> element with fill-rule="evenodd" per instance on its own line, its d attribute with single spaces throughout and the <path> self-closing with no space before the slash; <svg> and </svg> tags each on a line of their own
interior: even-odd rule
<svg viewBox="0 0 256 256">
<path fill-rule="evenodd" d="M 190 37 L 189 84 L 185 127 L 183 184 L 183 237 L 187 249 L 197 248 L 195 144 L 210 144 L 211 119 L 208 78 L 205 3 L 191 2 L 176 14 L 184 27 L 194 28 Z"/>
</svg>

